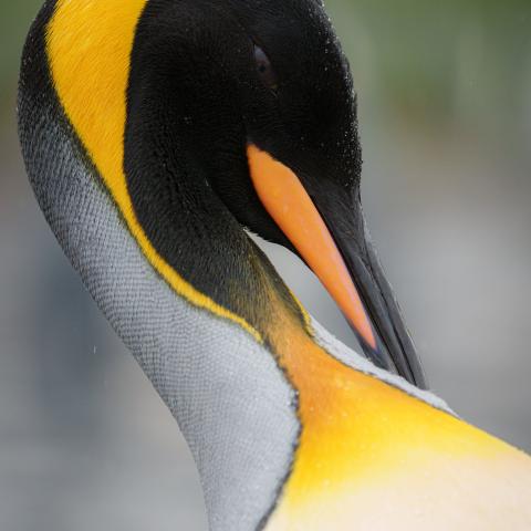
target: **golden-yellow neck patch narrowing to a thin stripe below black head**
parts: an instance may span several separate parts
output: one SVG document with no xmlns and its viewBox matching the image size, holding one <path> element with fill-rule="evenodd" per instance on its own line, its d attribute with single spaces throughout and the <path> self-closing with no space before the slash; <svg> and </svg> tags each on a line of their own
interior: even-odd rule
<svg viewBox="0 0 531 531">
<path fill-rule="evenodd" d="M 51 75 L 63 110 L 144 256 L 192 304 L 233 321 L 262 342 L 246 320 L 186 282 L 158 254 L 139 225 L 124 174 L 129 61 L 147 0 L 58 0 L 46 29 Z"/>
</svg>

